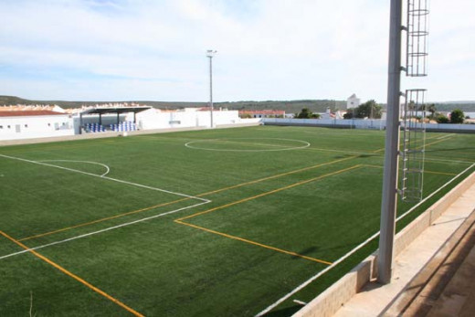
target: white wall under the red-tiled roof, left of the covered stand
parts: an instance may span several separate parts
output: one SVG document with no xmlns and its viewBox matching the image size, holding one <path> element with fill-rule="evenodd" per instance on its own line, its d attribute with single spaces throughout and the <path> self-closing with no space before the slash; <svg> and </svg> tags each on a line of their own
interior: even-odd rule
<svg viewBox="0 0 475 317">
<path fill-rule="evenodd" d="M 10 126 L 8 128 L 8 126 Z M 0 117 L 0 140 L 19 140 L 74 135 L 68 114 Z"/>
</svg>

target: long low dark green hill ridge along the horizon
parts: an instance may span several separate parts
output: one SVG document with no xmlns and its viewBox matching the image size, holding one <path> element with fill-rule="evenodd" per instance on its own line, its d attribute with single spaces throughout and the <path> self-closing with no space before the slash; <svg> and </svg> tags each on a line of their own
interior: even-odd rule
<svg viewBox="0 0 475 317">
<path fill-rule="evenodd" d="M 0 106 L 14 104 L 57 104 L 62 108 L 79 108 L 82 105 L 96 105 L 114 102 L 135 102 L 145 104 L 158 109 L 184 109 L 206 107 L 207 102 L 166 102 L 151 100 L 122 100 L 122 101 L 65 101 L 65 100 L 26 100 L 15 96 L 0 96 Z M 461 111 L 475 112 L 475 101 L 449 101 L 434 102 L 438 111 Z M 302 108 L 309 108 L 312 112 L 324 112 L 329 107 L 346 110 L 345 100 L 267 100 L 267 101 L 235 101 L 235 102 L 215 102 L 216 108 L 227 108 L 229 110 L 283 110 L 287 113 L 300 112 Z M 382 105 L 385 108 L 385 105 Z"/>
</svg>

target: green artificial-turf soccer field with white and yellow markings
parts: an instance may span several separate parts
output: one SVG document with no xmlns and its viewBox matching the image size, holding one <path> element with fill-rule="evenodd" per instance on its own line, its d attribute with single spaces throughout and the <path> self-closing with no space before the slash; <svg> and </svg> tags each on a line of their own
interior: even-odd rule
<svg viewBox="0 0 475 317">
<path fill-rule="evenodd" d="M 379 230 L 384 142 L 257 126 L 0 147 L 0 315 L 290 315 L 377 248 L 273 305 Z M 426 145 L 431 196 L 398 202 L 398 229 L 475 170 L 475 135 Z"/>
</svg>

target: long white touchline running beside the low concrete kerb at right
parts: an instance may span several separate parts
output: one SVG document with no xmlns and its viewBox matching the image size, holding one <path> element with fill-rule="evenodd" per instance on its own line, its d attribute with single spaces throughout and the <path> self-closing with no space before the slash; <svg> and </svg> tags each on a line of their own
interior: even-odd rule
<svg viewBox="0 0 475 317">
<path fill-rule="evenodd" d="M 433 195 L 436 195 L 439 191 L 441 191 L 443 188 L 445 188 L 447 185 L 449 185 L 450 183 L 452 183 L 453 181 L 455 181 L 457 178 L 459 178 L 459 176 L 461 174 L 464 174 L 465 172 L 469 171 L 470 168 L 472 168 L 473 166 L 475 166 L 475 164 L 471 164 L 468 168 L 466 168 L 465 170 L 463 170 L 462 172 L 460 172 L 458 175 L 456 175 L 454 178 L 452 178 L 451 180 L 449 180 L 449 182 L 447 182 L 446 184 L 442 185 L 441 187 L 438 188 L 438 190 L 436 190 L 435 192 L 433 192 L 431 195 L 428 195 L 426 198 L 424 198 L 423 200 L 421 200 L 417 205 L 413 206 L 412 208 L 410 208 L 409 210 L 406 211 L 406 213 L 404 213 L 403 215 L 399 216 L 396 218 L 396 222 L 399 221 L 400 219 L 406 217 L 409 213 L 411 213 L 413 210 L 415 210 L 417 208 L 417 206 L 420 206 L 421 204 L 425 203 L 430 197 L 432 197 Z M 379 231 L 376 232 L 373 236 L 371 236 L 370 238 L 367 238 L 366 240 L 364 240 L 364 242 L 358 246 L 356 246 L 355 248 L 353 248 L 350 252 L 346 253 L 342 258 L 340 259 L 337 259 L 336 261 L 334 261 L 332 263 L 332 265 L 326 267 L 325 269 L 322 269 L 320 272 L 318 272 L 316 275 L 312 276 L 309 280 L 306 280 L 304 281 L 303 283 L 301 283 L 301 285 L 299 285 L 298 287 L 296 287 L 293 291 L 290 291 L 289 293 L 287 293 L 286 295 L 284 295 L 283 297 L 280 298 L 280 300 L 274 302 L 273 304 L 269 305 L 265 310 L 263 310 L 262 312 L 259 312 L 256 316 L 263 316 L 265 315 L 266 313 L 270 312 L 271 310 L 273 310 L 274 308 L 276 308 L 277 306 L 280 305 L 280 303 L 282 303 L 282 301 L 286 301 L 287 299 L 290 298 L 290 296 L 292 296 L 293 294 L 295 294 L 296 292 L 298 291 L 301 291 L 303 288 L 305 288 L 307 285 L 309 285 L 313 280 L 317 280 L 319 277 L 321 277 L 323 274 L 325 274 L 327 271 L 329 271 L 330 269 L 334 268 L 335 266 L 337 266 L 338 264 L 340 264 L 344 259 L 347 259 L 349 258 L 351 255 L 354 254 L 354 252 L 356 252 L 357 250 L 359 250 L 360 248 L 363 248 L 366 244 L 368 244 L 371 240 L 373 240 L 374 238 L 377 238 L 379 236 Z"/>
</svg>

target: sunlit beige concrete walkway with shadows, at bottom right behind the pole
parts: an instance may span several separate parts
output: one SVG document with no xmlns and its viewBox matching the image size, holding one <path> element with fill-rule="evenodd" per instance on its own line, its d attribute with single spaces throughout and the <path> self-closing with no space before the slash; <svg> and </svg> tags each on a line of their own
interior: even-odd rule
<svg viewBox="0 0 475 317">
<path fill-rule="evenodd" d="M 397 258 L 391 284 L 368 283 L 336 316 L 475 316 L 475 185 Z"/>
</svg>

